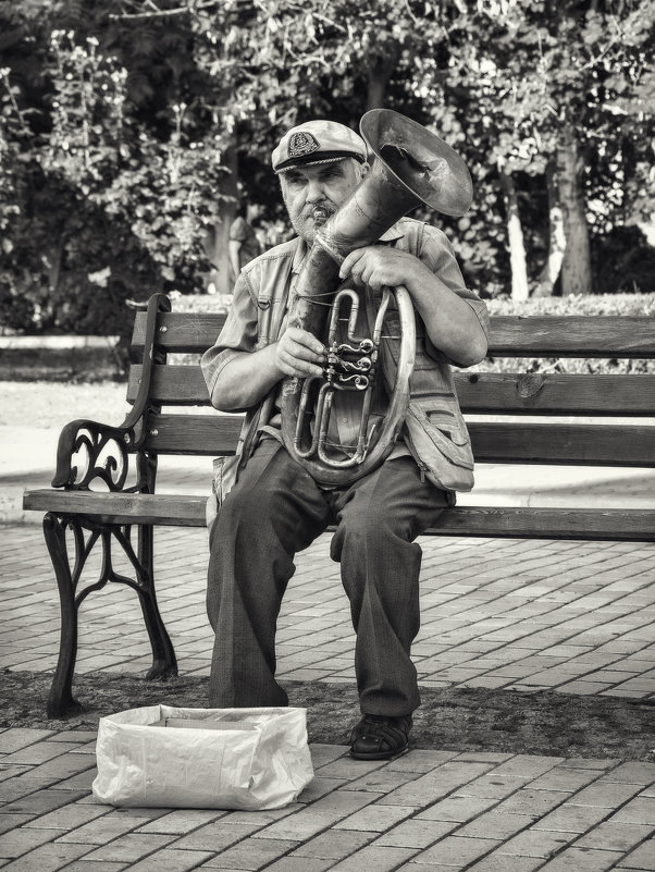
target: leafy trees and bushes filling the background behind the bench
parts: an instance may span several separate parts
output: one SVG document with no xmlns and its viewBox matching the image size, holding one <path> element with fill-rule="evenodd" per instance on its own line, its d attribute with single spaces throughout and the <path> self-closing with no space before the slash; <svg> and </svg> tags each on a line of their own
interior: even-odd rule
<svg viewBox="0 0 655 872">
<path fill-rule="evenodd" d="M 467 160 L 487 296 L 653 291 L 655 0 L 4 0 L 0 324 L 125 333 L 227 284 L 238 200 L 288 226 L 291 125 L 385 106 Z"/>
</svg>

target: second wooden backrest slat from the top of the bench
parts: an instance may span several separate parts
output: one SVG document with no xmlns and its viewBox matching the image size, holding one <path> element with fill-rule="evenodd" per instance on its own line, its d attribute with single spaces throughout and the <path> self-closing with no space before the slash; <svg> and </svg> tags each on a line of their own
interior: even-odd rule
<svg viewBox="0 0 655 872">
<path fill-rule="evenodd" d="M 129 403 L 141 372 L 140 364 L 129 370 Z M 465 413 L 655 415 L 655 376 L 456 372 L 455 383 Z M 162 405 L 210 405 L 202 372 L 194 366 L 156 367 L 150 396 Z"/>
</svg>

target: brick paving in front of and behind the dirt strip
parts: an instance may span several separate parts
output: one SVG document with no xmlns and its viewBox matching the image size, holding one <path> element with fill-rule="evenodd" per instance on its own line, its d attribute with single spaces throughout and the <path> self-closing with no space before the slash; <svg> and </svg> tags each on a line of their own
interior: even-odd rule
<svg viewBox="0 0 655 872">
<path fill-rule="evenodd" d="M 205 533 L 156 536 L 181 672 L 206 674 Z M 0 666 L 51 670 L 59 603 L 40 530 L 0 527 Z M 353 634 L 326 538 L 297 566 L 280 675 L 351 683 Z M 654 601 L 653 545 L 430 539 L 415 649 L 421 684 L 655 701 Z M 149 660 L 134 594 L 89 598 L 78 672 L 140 673 Z M 0 732 L 3 872 L 655 870 L 655 763 L 434 749 L 370 764 L 317 745 L 316 778 L 298 802 L 217 812 L 97 805 L 94 752 L 95 733 L 47 721 Z"/>
</svg>

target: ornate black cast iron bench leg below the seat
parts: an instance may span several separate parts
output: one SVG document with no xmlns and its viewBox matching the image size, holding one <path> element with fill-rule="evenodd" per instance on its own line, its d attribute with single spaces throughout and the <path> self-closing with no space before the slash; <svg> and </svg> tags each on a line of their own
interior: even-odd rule
<svg viewBox="0 0 655 872">
<path fill-rule="evenodd" d="M 74 554 L 71 555 L 66 542 L 66 528 L 73 535 Z M 85 529 L 89 531 L 85 539 Z M 152 573 L 152 527 L 139 525 L 138 553 L 131 542 L 129 526 L 96 526 L 86 519 L 84 524 L 76 516 L 58 516 L 48 513 L 44 518 L 44 535 L 59 588 L 61 606 L 61 637 L 59 660 L 52 679 L 48 700 L 48 717 L 62 717 L 81 710 L 73 698 L 72 685 L 77 656 L 77 615 L 84 599 L 94 590 L 100 590 L 108 581 L 119 581 L 135 590 L 139 597 L 146 629 L 152 648 L 152 666 L 146 678 L 165 679 L 177 675 L 177 662 L 173 644 L 161 618 L 155 593 Z M 95 584 L 77 591 L 86 561 L 94 545 L 101 540 L 102 566 Z M 112 563 L 112 539 L 118 541 L 135 573 L 135 579 L 116 573 Z"/>
</svg>

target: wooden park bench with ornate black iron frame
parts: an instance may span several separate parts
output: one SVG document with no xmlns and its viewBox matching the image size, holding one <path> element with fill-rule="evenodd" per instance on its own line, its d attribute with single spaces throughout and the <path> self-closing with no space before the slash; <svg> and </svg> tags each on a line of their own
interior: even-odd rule
<svg viewBox="0 0 655 872">
<path fill-rule="evenodd" d="M 61 601 L 61 644 L 49 716 L 76 708 L 72 680 L 77 613 L 86 597 L 108 581 L 126 584 L 138 594 L 153 653 L 147 677 L 177 672 L 157 605 L 152 530 L 156 525 L 202 527 L 206 498 L 158 493 L 158 457 L 234 454 L 242 416 L 198 414 L 194 407 L 209 405 L 199 357 L 190 366 L 166 363 L 166 357 L 201 354 L 215 341 L 223 320 L 217 314 L 172 312 L 165 296 L 153 296 L 147 311 L 136 316 L 133 347 L 143 363 L 129 372 L 132 410 L 125 421 L 120 427 L 89 420 L 67 425 L 59 441 L 52 489 L 25 493 L 25 508 L 47 513 L 44 529 Z M 655 330 L 645 317 L 495 317 L 490 355 L 653 358 Z M 554 420 L 654 416 L 655 374 L 462 370 L 457 389 L 465 413 L 478 418 L 470 432 L 479 463 L 655 467 L 655 429 L 643 422 Z M 171 407 L 177 407 L 176 414 Z M 502 416 L 507 420 L 498 420 Z M 531 421 L 517 416 L 531 416 Z M 458 506 L 444 512 L 428 535 L 655 541 L 655 511 Z M 98 541 L 99 577 L 83 586 L 85 562 Z M 114 569 L 116 548 L 127 555 L 131 577 Z"/>
</svg>

